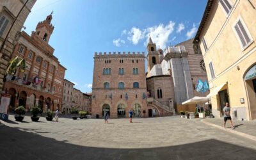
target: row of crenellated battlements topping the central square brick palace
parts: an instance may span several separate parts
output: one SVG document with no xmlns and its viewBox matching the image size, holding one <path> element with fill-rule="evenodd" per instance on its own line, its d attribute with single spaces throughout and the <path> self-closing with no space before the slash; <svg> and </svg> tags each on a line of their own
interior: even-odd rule
<svg viewBox="0 0 256 160">
<path fill-rule="evenodd" d="M 145 52 L 95 52 L 94 58 L 115 58 L 115 57 L 145 57 Z"/>
</svg>

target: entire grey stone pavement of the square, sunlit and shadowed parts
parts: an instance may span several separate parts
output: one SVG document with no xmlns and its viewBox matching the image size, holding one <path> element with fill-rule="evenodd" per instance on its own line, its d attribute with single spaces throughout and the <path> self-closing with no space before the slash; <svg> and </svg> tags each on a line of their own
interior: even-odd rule
<svg viewBox="0 0 256 160">
<path fill-rule="evenodd" d="M 255 159 L 256 143 L 200 119 L 161 118 L 9 122 L 0 126 L 1 159 Z"/>
</svg>

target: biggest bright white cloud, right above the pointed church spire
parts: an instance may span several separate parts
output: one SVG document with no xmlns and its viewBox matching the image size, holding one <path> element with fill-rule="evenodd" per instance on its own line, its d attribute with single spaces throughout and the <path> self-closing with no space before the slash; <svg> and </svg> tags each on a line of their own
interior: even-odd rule
<svg viewBox="0 0 256 160">
<path fill-rule="evenodd" d="M 174 30 L 174 26 L 175 22 L 170 21 L 166 26 L 159 24 L 159 26 L 147 28 L 147 38 L 150 36 L 154 43 L 159 45 L 161 49 L 165 49 L 168 38 Z"/>
</svg>

